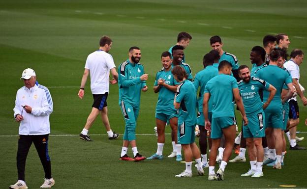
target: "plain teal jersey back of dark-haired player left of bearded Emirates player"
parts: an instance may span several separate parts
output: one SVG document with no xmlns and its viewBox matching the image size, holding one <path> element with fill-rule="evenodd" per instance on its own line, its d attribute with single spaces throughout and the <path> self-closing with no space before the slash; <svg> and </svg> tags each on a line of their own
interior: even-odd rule
<svg viewBox="0 0 307 189">
<path fill-rule="evenodd" d="M 235 116 L 232 101 L 234 88 L 238 88 L 237 80 L 225 74 L 215 76 L 207 82 L 204 93 L 210 93 L 212 99 L 212 118 Z"/>
</svg>

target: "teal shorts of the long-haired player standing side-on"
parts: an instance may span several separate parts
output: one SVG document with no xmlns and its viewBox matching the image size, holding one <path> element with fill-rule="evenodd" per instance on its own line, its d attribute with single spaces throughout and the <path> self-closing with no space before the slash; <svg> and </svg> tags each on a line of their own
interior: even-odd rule
<svg viewBox="0 0 307 189">
<path fill-rule="evenodd" d="M 195 142 L 195 125 L 187 126 L 184 123 L 178 125 L 178 144 L 192 144 Z"/>
</svg>

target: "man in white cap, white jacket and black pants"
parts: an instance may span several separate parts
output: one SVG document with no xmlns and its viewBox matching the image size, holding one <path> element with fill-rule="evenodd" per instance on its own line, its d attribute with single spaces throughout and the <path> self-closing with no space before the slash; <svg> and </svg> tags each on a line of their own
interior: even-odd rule
<svg viewBox="0 0 307 189">
<path fill-rule="evenodd" d="M 45 181 L 40 188 L 51 188 L 55 181 L 51 174 L 48 153 L 50 134 L 49 114 L 53 103 L 48 88 L 36 82 L 36 74 L 31 68 L 25 69 L 22 77 L 25 86 L 17 91 L 14 118 L 20 122 L 17 150 L 18 181 L 10 189 L 28 189 L 25 183 L 25 166 L 32 142 L 45 171 Z"/>
</svg>

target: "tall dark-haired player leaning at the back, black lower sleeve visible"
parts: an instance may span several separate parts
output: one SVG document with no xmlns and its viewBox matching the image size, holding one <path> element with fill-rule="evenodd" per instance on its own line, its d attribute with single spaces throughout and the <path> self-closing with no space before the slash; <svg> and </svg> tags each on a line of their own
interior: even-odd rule
<svg viewBox="0 0 307 189">
<path fill-rule="evenodd" d="M 240 81 L 238 74 L 239 62 L 235 55 L 223 51 L 223 43 L 219 36 L 215 35 L 210 38 L 210 46 L 213 50 L 217 51 L 220 55 L 218 63 L 227 60 L 231 63 L 233 76 Z"/>
</svg>

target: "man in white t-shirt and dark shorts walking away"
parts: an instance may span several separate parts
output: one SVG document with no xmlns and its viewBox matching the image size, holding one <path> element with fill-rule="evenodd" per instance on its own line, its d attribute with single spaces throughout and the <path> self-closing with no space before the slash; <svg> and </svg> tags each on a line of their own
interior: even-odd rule
<svg viewBox="0 0 307 189">
<path fill-rule="evenodd" d="M 94 98 L 92 105 L 92 112 L 90 113 L 84 129 L 80 133 L 79 137 L 85 141 L 92 141 L 88 135 L 89 129 L 95 121 L 97 115 L 101 114 L 102 122 L 107 130 L 109 139 L 115 139 L 119 137 L 119 134 L 113 133 L 110 127 L 108 118 L 107 98 L 109 93 L 109 82 L 116 84 L 118 81 L 118 73 L 111 54 L 108 54 L 112 47 L 112 40 L 108 36 L 103 36 L 99 41 L 99 49 L 89 54 L 84 74 L 81 81 L 80 90 L 78 96 L 80 99 L 84 97 L 85 83 L 90 74 L 91 76 L 91 91 Z M 113 80 L 109 80 L 110 72 L 113 76 Z"/>
</svg>

